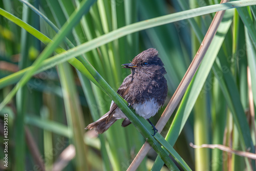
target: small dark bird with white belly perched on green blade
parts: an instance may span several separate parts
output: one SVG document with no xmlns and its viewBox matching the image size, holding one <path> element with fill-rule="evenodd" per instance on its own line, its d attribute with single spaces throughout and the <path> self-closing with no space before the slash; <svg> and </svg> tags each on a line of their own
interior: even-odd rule
<svg viewBox="0 0 256 171">
<path fill-rule="evenodd" d="M 166 71 L 162 60 L 158 57 L 158 51 L 154 48 L 147 49 L 138 54 L 131 63 L 125 63 L 123 68 L 130 68 L 132 74 L 127 76 L 117 93 L 124 98 L 136 114 L 143 118 L 156 115 L 167 96 L 167 81 L 164 78 Z M 112 101 L 110 111 L 89 124 L 86 129 L 95 129 L 101 134 L 117 120 L 124 119 L 122 126 L 127 126 L 131 121 L 122 113 L 118 106 Z M 151 123 L 151 122 L 150 122 Z M 157 130 L 154 127 L 154 135 Z"/>
</svg>

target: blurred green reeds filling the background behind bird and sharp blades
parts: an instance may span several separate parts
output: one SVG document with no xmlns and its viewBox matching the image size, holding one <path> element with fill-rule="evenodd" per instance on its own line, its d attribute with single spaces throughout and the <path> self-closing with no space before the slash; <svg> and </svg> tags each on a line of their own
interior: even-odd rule
<svg viewBox="0 0 256 171">
<path fill-rule="evenodd" d="M 58 29 L 81 3 L 80 0 L 28 2 Z M 61 42 L 59 49 L 68 50 L 72 44 L 76 47 L 142 20 L 219 3 L 214 0 L 100 0 L 91 6 L 68 34 L 69 41 Z M 20 1 L 3 0 L 0 8 L 50 39 L 56 35 L 51 25 Z M 197 145 L 223 144 L 241 151 L 250 147 L 250 152 L 254 153 L 256 39 L 253 34 L 256 35 L 256 9 L 250 6 L 228 11 L 216 40 L 212 41 L 206 53 L 205 58 L 208 58 L 204 64 L 202 62 L 205 68 L 200 68 L 179 109 L 161 133 L 163 137 L 169 136 L 172 142 L 168 142 L 174 145 L 193 170 L 244 170 L 255 167 L 255 163 L 251 167 L 245 157 L 219 149 L 194 149 L 189 146 L 190 142 Z M 195 11 L 199 15 L 200 12 Z M 13 73 L 31 66 L 49 41 L 37 32 L 34 34 L 41 39 L 23 29 L 28 26 L 20 27 L 10 22 L 7 16 L 3 16 L 3 11 L 0 14 L 2 102 L 18 81 Z M 156 48 L 167 71 L 167 105 L 197 53 L 214 15 L 210 13 L 138 31 L 93 49 L 77 59 L 86 58 L 116 91 L 130 74 L 121 65 L 143 50 Z M 53 55 L 60 52 L 55 51 Z M 211 63 L 210 59 L 213 59 Z M 0 111 L 0 125 L 4 124 L 4 114 L 8 114 L 9 138 L 7 168 L 3 162 L 5 146 L 1 127 L 1 169 L 41 170 L 38 163 L 44 163 L 46 170 L 126 170 L 145 142 L 134 125 L 121 127 L 122 121 L 118 120 L 99 136 L 92 131 L 84 131 L 86 125 L 109 111 L 111 101 L 70 60 L 69 63 L 63 62 L 34 75 Z M 164 108 L 151 119 L 154 124 Z M 161 163 L 152 149 L 137 170 L 151 170 L 152 166 L 153 170 L 168 170 L 158 162 Z"/>
</svg>

